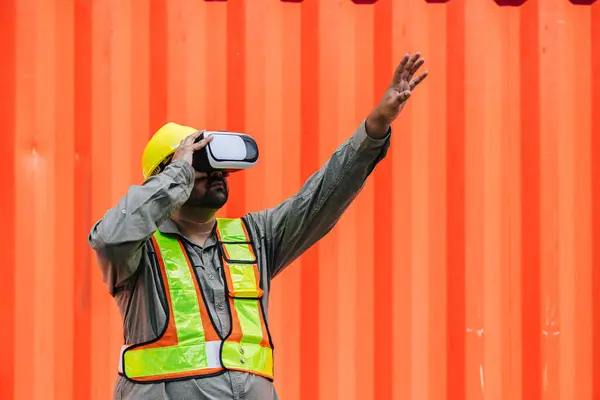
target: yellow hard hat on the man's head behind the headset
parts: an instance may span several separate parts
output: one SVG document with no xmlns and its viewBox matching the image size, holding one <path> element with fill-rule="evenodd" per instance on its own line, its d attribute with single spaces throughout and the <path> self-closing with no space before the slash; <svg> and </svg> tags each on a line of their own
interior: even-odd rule
<svg viewBox="0 0 600 400">
<path fill-rule="evenodd" d="M 169 122 L 152 136 L 142 154 L 144 180 L 158 174 L 170 161 L 183 139 L 197 129 Z"/>
</svg>

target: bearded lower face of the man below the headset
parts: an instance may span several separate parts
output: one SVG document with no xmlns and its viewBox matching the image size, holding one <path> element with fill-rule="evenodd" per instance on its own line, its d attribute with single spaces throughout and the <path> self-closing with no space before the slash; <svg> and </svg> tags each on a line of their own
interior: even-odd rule
<svg viewBox="0 0 600 400">
<path fill-rule="evenodd" d="M 222 171 L 196 172 L 194 188 L 185 204 L 215 210 L 223 207 L 229 197 L 228 175 Z"/>
</svg>

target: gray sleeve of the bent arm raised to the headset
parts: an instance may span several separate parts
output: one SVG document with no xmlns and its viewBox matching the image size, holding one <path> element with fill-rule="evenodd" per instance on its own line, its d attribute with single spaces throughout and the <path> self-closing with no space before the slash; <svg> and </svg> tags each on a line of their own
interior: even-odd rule
<svg viewBox="0 0 600 400">
<path fill-rule="evenodd" d="M 111 294 L 137 270 L 144 242 L 185 203 L 193 183 L 192 167 L 176 161 L 143 185 L 131 186 L 119 203 L 94 224 L 88 242 L 96 252 Z"/>
</svg>

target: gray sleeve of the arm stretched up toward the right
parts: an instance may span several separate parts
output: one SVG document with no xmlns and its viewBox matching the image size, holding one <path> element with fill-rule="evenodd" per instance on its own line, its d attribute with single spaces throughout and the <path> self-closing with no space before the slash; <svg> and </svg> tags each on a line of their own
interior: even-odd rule
<svg viewBox="0 0 600 400">
<path fill-rule="evenodd" d="M 385 157 L 390 136 L 370 138 L 363 121 L 298 193 L 252 215 L 268 246 L 270 279 L 333 229 Z"/>
</svg>

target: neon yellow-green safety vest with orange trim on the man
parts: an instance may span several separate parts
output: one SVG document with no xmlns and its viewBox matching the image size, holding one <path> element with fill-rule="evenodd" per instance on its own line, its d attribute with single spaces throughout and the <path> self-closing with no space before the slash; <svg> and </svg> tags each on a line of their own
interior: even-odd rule
<svg viewBox="0 0 600 400">
<path fill-rule="evenodd" d="M 254 246 L 241 219 L 217 219 L 231 329 L 221 339 L 180 239 L 156 231 L 152 242 L 165 289 L 168 319 L 155 340 L 125 345 L 119 373 L 135 382 L 203 378 L 225 370 L 273 379 L 273 345 L 261 303 Z"/>
</svg>

